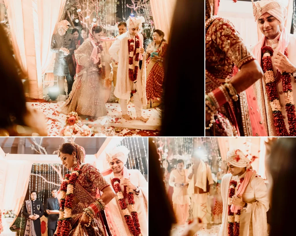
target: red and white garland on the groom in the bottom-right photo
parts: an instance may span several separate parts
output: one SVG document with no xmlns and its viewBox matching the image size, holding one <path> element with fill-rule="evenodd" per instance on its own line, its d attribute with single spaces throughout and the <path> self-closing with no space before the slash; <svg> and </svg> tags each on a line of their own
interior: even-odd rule
<svg viewBox="0 0 296 236">
<path fill-rule="evenodd" d="M 239 186 L 237 187 L 237 191 L 239 190 L 239 187 L 244 181 L 244 178 L 239 179 Z M 228 191 L 228 208 L 227 208 L 227 213 L 228 213 L 228 235 L 229 236 L 239 236 L 239 221 L 240 221 L 240 210 L 237 210 L 237 213 L 234 213 L 230 210 L 231 208 L 231 199 L 234 196 L 235 193 L 235 187 L 237 186 L 237 181 L 231 180 L 229 183 L 229 191 Z"/>
</svg>

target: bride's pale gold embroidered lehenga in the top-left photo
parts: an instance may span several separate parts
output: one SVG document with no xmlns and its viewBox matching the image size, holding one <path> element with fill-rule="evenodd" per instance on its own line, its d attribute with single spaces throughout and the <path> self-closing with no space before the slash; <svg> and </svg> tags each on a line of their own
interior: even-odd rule
<svg viewBox="0 0 296 236">
<path fill-rule="evenodd" d="M 75 58 L 83 66 L 76 74 L 72 91 L 62 107 L 62 113 L 77 112 L 78 115 L 101 117 L 107 115 L 104 103 L 104 85 L 99 78 L 98 64 L 94 64 L 91 53 L 94 46 L 87 38 L 75 51 Z"/>
</svg>

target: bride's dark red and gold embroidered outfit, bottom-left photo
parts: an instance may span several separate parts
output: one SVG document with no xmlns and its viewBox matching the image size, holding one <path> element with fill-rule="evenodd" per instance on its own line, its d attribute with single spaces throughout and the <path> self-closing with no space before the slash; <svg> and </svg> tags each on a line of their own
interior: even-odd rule
<svg viewBox="0 0 296 236">
<path fill-rule="evenodd" d="M 109 183 L 92 164 L 82 164 L 81 172 L 74 184 L 71 215 L 71 230 L 69 236 L 105 236 L 106 229 L 101 213 L 94 215 L 89 227 L 81 223 L 84 209 L 96 200 L 96 190 L 102 191 Z M 55 233 L 56 236 L 56 233 Z"/>
</svg>

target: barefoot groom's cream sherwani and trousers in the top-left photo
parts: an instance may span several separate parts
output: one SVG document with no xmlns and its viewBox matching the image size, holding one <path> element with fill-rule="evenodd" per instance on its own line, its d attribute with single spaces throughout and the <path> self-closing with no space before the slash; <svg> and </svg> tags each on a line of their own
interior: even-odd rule
<svg viewBox="0 0 296 236">
<path fill-rule="evenodd" d="M 141 37 L 143 42 L 143 35 L 137 34 Z M 117 79 L 115 85 L 114 95 L 120 99 L 120 107 L 123 115 L 128 113 L 127 103 L 130 99 L 130 94 L 133 89 L 133 83 L 128 76 L 128 39 L 133 38 L 128 31 L 116 37 L 115 42 L 109 49 L 109 54 L 115 61 L 118 61 Z M 135 42 L 135 41 L 134 41 Z M 140 45 L 143 48 L 143 43 Z M 135 60 L 135 56 L 134 56 Z M 146 54 L 143 55 L 142 69 L 138 69 L 138 76 L 136 82 L 136 93 L 133 94 L 134 104 L 137 117 L 142 116 L 142 108 L 147 105 L 146 98 Z"/>
</svg>

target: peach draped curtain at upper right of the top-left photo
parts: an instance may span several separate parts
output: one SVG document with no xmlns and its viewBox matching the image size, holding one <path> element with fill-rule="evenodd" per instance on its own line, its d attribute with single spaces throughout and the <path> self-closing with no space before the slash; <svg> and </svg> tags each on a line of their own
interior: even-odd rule
<svg viewBox="0 0 296 236">
<path fill-rule="evenodd" d="M 165 33 L 165 39 L 169 41 L 170 25 L 176 4 L 182 4 L 181 0 L 150 0 L 155 29 Z"/>
</svg>

